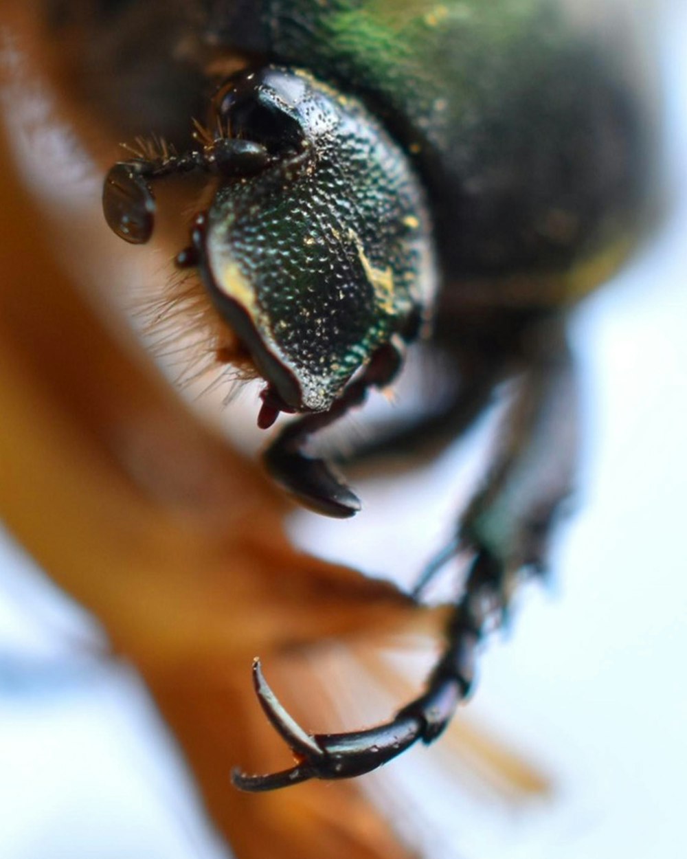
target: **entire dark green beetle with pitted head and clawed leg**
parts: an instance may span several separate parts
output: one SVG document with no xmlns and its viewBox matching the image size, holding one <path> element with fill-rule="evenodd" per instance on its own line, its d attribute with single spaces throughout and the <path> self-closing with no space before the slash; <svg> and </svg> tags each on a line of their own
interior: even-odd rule
<svg viewBox="0 0 687 859">
<path fill-rule="evenodd" d="M 647 219 L 652 133 L 630 47 L 611 50 L 561 0 L 207 0 L 197 11 L 204 43 L 240 67 L 216 82 L 186 149 L 140 143 L 110 169 L 103 206 L 117 235 L 143 243 L 154 184 L 209 177 L 214 196 L 176 265 L 197 271 L 264 378 L 258 426 L 297 415 L 266 449 L 271 475 L 322 514 L 355 515 L 358 498 L 307 443 L 391 384 L 412 344 L 441 352 L 452 393 L 358 455 L 458 436 L 497 385 L 516 383 L 483 484 L 414 591 L 469 553 L 426 690 L 380 726 L 307 734 L 256 661 L 258 699 L 296 763 L 233 780 L 269 790 L 357 776 L 435 740 L 515 583 L 546 570 L 575 472 L 566 314 Z"/>
</svg>

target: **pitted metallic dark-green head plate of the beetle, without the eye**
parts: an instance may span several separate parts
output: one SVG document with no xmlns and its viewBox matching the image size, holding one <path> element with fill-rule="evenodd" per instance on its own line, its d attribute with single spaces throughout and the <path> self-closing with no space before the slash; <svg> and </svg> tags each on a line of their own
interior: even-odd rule
<svg viewBox="0 0 687 859">
<path fill-rule="evenodd" d="M 304 147 L 219 189 L 206 277 L 295 376 L 301 403 L 292 405 L 323 411 L 431 301 L 428 217 L 408 161 L 356 101 L 301 72 L 268 75 L 277 101 L 279 76 L 305 83 L 295 103 L 282 103 L 301 124 Z"/>
</svg>

